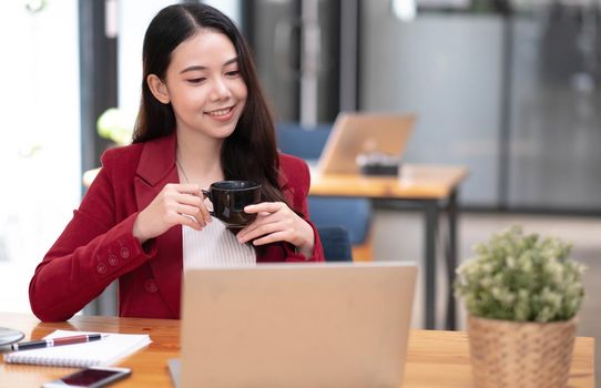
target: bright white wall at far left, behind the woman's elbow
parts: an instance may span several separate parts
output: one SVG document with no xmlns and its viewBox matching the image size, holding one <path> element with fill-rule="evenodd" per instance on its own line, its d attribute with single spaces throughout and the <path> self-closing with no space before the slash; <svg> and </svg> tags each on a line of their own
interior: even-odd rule
<svg viewBox="0 0 601 388">
<path fill-rule="evenodd" d="M 0 2 L 0 310 L 29 312 L 35 265 L 81 196 L 78 1 Z"/>
</svg>

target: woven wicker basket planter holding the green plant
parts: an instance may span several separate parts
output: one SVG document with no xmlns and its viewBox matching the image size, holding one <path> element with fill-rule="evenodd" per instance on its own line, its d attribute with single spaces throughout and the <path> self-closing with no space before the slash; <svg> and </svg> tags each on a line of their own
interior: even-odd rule
<svg viewBox="0 0 601 388">
<path fill-rule="evenodd" d="M 539 324 L 468 317 L 478 388 L 564 388 L 577 320 Z"/>
</svg>

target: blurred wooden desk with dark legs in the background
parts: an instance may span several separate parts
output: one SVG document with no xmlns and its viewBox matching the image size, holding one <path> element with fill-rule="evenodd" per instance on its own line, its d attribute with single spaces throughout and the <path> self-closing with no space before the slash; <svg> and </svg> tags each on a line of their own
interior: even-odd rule
<svg viewBox="0 0 601 388">
<path fill-rule="evenodd" d="M 447 212 L 447 313 L 445 328 L 456 328 L 455 297 L 450 285 L 457 266 L 457 195 L 468 172 L 462 166 L 406 164 L 398 177 L 363 175 L 312 175 L 310 195 L 354 196 L 418 204 L 425 215 L 425 324 L 436 328 L 436 236 L 440 210 Z"/>
</svg>

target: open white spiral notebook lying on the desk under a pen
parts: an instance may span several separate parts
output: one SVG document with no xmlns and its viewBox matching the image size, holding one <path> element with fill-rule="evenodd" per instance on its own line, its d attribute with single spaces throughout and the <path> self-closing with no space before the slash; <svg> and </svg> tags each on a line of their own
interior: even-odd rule
<svg viewBox="0 0 601 388">
<path fill-rule="evenodd" d="M 69 337 L 93 333 L 55 330 L 44 338 Z M 105 334 L 106 337 L 92 343 L 9 353 L 4 355 L 4 363 L 75 368 L 109 366 L 143 348 L 152 341 L 150 336 L 146 334 Z"/>
</svg>

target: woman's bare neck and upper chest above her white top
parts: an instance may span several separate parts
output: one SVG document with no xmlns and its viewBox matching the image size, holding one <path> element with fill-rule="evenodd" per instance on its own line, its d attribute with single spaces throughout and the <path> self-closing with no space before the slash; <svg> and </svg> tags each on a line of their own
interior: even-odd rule
<svg viewBox="0 0 601 388">
<path fill-rule="evenodd" d="M 222 145 L 222 139 L 177 131 L 176 157 L 180 182 L 195 183 L 207 187 L 213 182 L 222 181 L 224 178 L 221 166 Z"/>
</svg>

